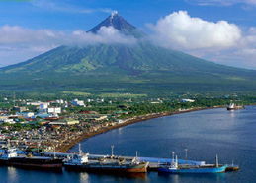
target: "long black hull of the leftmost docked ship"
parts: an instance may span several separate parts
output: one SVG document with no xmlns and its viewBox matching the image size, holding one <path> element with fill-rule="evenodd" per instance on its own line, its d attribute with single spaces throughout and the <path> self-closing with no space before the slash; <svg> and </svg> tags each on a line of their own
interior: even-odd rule
<svg viewBox="0 0 256 183">
<path fill-rule="evenodd" d="M 16 167 L 24 167 L 24 168 L 61 169 L 62 161 L 60 159 L 13 157 L 9 159 L 0 159 L 0 165 L 16 166 Z"/>
</svg>

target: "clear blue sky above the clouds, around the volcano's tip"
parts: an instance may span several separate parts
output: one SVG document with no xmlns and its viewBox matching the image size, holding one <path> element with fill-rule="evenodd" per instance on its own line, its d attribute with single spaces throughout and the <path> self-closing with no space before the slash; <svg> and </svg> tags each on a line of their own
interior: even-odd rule
<svg viewBox="0 0 256 183">
<path fill-rule="evenodd" d="M 160 17 L 179 10 L 207 21 L 226 20 L 241 27 L 256 25 L 256 7 L 241 3 L 200 6 L 193 0 L 0 0 L 0 5 L 1 25 L 32 29 L 88 30 L 108 16 L 101 9 L 118 10 L 136 27 L 154 23 Z M 88 13 L 79 10 L 88 10 Z"/>
</svg>

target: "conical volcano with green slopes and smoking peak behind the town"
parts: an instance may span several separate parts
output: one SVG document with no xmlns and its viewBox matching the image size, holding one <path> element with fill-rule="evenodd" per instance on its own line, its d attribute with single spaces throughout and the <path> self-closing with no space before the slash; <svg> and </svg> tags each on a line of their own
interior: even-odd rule
<svg viewBox="0 0 256 183">
<path fill-rule="evenodd" d="M 96 27 L 113 27 L 137 39 L 134 45 L 63 45 L 0 69 L 1 89 L 43 88 L 109 91 L 254 91 L 256 71 L 215 64 L 146 41 L 146 33 L 117 12 Z M 19 82 L 18 82 L 19 81 Z M 139 89 L 139 90 L 138 90 Z M 150 91 L 149 90 L 149 91 Z"/>
</svg>

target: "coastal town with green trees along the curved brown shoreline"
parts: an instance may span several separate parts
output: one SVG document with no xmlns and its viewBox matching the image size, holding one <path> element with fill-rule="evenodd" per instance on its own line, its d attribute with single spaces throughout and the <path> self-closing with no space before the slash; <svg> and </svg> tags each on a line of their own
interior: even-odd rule
<svg viewBox="0 0 256 183">
<path fill-rule="evenodd" d="M 164 115 L 219 107 L 229 98 L 1 98 L 0 146 L 26 152 L 67 152 L 108 130 Z"/>
</svg>

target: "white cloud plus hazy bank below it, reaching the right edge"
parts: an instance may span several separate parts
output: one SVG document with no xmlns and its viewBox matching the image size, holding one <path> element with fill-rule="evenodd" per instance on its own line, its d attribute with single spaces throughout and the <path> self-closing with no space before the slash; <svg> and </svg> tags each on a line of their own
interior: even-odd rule
<svg viewBox="0 0 256 183">
<path fill-rule="evenodd" d="M 216 23 L 193 18 L 185 11 L 161 18 L 150 40 L 157 45 L 181 50 L 216 63 L 256 69 L 256 28 L 244 28 L 226 21 Z"/>
</svg>

